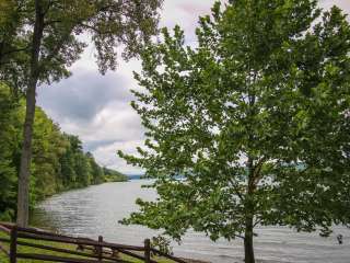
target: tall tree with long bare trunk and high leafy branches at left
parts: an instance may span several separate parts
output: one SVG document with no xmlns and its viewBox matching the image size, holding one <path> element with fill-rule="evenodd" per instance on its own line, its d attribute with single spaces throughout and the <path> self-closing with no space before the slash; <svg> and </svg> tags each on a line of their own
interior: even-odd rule
<svg viewBox="0 0 350 263">
<path fill-rule="evenodd" d="M 140 45 L 156 33 L 158 8 L 161 2 L 161 0 L 1 2 L 11 11 L 9 18 L 0 21 L 0 26 L 10 28 L 0 39 L 1 79 L 12 80 L 13 68 L 20 68 L 15 81 L 11 83 L 12 88 L 24 90 L 26 94 L 18 193 L 20 226 L 26 226 L 28 221 L 28 180 L 36 87 L 44 82 L 58 81 L 70 75 L 68 67 L 79 59 L 90 42 L 89 38 L 79 37 L 82 34 L 91 36 L 96 48 L 97 64 L 103 73 L 107 69 L 116 68 L 118 46 L 124 47 L 121 55 L 125 59 L 136 56 Z"/>
</svg>

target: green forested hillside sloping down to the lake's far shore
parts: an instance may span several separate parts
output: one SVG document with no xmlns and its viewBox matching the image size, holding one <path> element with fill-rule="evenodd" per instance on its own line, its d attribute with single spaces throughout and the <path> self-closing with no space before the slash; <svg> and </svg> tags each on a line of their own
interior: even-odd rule
<svg viewBox="0 0 350 263">
<path fill-rule="evenodd" d="M 0 82 L 0 220 L 15 216 L 25 105 Z M 78 136 L 62 133 L 40 107 L 36 107 L 31 206 L 55 193 L 127 176 L 100 167 L 91 152 L 84 152 Z"/>
</svg>

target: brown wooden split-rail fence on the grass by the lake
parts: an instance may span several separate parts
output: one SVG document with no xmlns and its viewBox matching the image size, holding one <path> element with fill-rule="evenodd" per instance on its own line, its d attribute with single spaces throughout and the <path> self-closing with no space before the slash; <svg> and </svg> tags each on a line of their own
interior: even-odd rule
<svg viewBox="0 0 350 263">
<path fill-rule="evenodd" d="M 161 255 L 162 258 L 170 259 L 174 262 L 186 263 L 186 261 L 182 259 L 162 253 L 161 251 L 151 248 L 149 239 L 144 240 L 143 247 L 117 244 L 105 242 L 103 237 L 98 237 L 98 240 L 95 241 L 88 238 L 73 238 L 51 233 L 35 228 L 22 228 L 7 222 L 0 222 L 0 231 L 4 232 L 4 236 L 7 237 L 0 237 L 0 252 L 7 254 L 10 263 L 16 263 L 18 259 L 67 263 L 129 262 L 121 259 L 120 254 L 128 255 L 130 259 L 137 259 L 145 263 L 158 263 L 158 261 L 151 256 L 152 254 Z M 45 244 L 45 242 L 49 242 L 50 244 Z M 54 247 L 52 243 L 66 248 Z M 77 249 L 68 249 L 67 244 L 72 245 L 72 248 L 75 245 Z M 37 249 L 45 253 L 24 253 L 20 251 L 19 247 Z"/>
</svg>

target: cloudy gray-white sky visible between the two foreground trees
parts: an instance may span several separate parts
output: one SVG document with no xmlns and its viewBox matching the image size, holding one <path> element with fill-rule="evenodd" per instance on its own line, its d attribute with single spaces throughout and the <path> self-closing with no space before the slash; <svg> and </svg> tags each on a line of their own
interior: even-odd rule
<svg viewBox="0 0 350 263">
<path fill-rule="evenodd" d="M 179 24 L 187 44 L 195 42 L 195 27 L 199 15 L 207 14 L 213 0 L 164 0 L 161 26 Z M 350 0 L 322 0 L 328 9 L 332 4 L 350 13 Z M 117 150 L 132 153 L 144 139 L 139 116 L 130 106 L 130 89 L 137 88 L 132 71 L 140 62 L 119 60 L 115 72 L 101 76 L 94 62 L 93 48 L 88 48 L 71 70 L 73 76 L 38 90 L 38 104 L 60 125 L 63 132 L 79 135 L 84 149 L 93 152 L 102 165 L 128 174 L 140 169 L 127 165 L 117 157 Z"/>
</svg>

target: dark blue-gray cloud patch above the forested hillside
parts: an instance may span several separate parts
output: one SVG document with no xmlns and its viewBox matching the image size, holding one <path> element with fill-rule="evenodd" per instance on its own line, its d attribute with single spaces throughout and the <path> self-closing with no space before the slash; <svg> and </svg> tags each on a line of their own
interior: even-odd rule
<svg viewBox="0 0 350 263">
<path fill-rule="evenodd" d="M 115 73 L 100 76 L 94 71 L 75 71 L 69 79 L 42 88 L 38 101 L 59 121 L 89 123 L 106 104 L 131 99 L 122 89 L 126 83 L 122 76 Z"/>
</svg>

